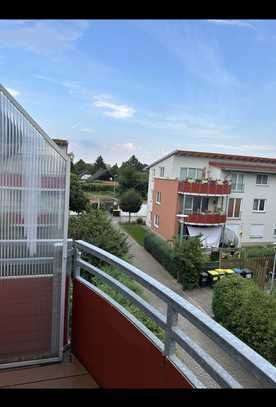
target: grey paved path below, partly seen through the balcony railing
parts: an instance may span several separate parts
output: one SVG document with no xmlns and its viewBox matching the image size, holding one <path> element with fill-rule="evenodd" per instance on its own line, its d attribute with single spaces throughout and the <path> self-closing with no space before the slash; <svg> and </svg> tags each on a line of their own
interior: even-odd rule
<svg viewBox="0 0 276 407">
<path fill-rule="evenodd" d="M 113 218 L 114 226 L 119 227 L 119 219 Z M 125 232 L 125 231 L 124 231 Z M 212 317 L 212 289 L 199 288 L 191 291 L 184 292 L 182 286 L 131 236 L 128 235 L 128 242 L 130 244 L 129 253 L 132 256 L 131 263 L 140 268 L 145 273 L 149 274 L 159 282 L 171 288 L 177 294 L 181 295 L 186 300 L 190 301 L 193 305 L 206 312 Z M 148 290 L 145 291 L 148 302 L 158 308 L 162 313 L 166 312 L 166 305 L 156 295 Z M 245 372 L 240 365 L 233 361 L 233 359 L 220 347 L 218 347 L 211 339 L 202 334 L 198 329 L 192 326 L 187 320 L 179 317 L 178 325 L 183 329 L 185 334 L 193 339 L 205 351 L 209 353 L 217 362 L 219 362 L 232 376 L 238 380 L 244 387 L 262 387 L 260 383 Z M 200 378 L 208 388 L 217 388 L 218 385 L 211 379 L 201 367 L 199 367 L 193 359 L 184 351 L 178 353 L 181 359 L 185 360 L 185 364 Z"/>
</svg>

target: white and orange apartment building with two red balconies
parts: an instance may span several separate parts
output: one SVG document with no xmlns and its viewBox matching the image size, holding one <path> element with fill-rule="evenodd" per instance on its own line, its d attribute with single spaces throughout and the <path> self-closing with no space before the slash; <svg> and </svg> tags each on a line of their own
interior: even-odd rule
<svg viewBox="0 0 276 407">
<path fill-rule="evenodd" d="M 206 247 L 276 242 L 276 159 L 176 150 L 149 169 L 147 225 Z"/>
</svg>

